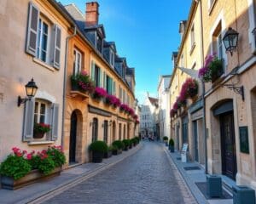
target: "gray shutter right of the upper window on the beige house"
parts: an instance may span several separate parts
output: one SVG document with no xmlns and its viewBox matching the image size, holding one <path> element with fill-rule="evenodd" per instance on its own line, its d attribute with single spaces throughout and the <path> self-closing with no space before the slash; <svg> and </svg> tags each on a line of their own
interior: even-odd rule
<svg viewBox="0 0 256 204">
<path fill-rule="evenodd" d="M 56 69 L 60 69 L 61 65 L 61 28 L 55 25 L 55 48 L 54 48 L 54 64 Z"/>
</svg>

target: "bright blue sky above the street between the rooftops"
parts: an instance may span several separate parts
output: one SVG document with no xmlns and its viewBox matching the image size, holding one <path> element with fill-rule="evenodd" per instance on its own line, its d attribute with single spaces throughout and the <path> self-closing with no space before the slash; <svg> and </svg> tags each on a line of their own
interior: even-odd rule
<svg viewBox="0 0 256 204">
<path fill-rule="evenodd" d="M 74 3 L 84 14 L 85 0 Z M 191 0 L 98 0 L 99 23 L 106 40 L 114 41 L 120 57 L 135 68 L 136 98 L 143 104 L 147 92 L 157 97 L 160 75 L 172 74 L 172 52 L 181 41 L 178 26 L 187 20 Z"/>
</svg>

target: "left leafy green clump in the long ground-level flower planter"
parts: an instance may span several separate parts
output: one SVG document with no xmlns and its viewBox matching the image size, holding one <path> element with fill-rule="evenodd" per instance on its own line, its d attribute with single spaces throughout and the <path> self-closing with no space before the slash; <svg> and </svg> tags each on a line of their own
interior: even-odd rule
<svg viewBox="0 0 256 204">
<path fill-rule="evenodd" d="M 32 167 L 22 156 L 9 155 L 0 165 L 0 173 L 3 176 L 14 178 L 15 180 L 26 176 Z"/>
</svg>

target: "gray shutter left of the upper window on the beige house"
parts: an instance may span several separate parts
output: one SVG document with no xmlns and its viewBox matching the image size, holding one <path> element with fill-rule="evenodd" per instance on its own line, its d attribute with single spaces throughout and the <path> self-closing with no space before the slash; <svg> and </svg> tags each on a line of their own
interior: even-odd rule
<svg viewBox="0 0 256 204">
<path fill-rule="evenodd" d="M 33 3 L 29 3 L 26 33 L 26 52 L 28 54 L 32 54 L 34 57 L 37 55 L 38 21 L 38 8 Z"/>
</svg>

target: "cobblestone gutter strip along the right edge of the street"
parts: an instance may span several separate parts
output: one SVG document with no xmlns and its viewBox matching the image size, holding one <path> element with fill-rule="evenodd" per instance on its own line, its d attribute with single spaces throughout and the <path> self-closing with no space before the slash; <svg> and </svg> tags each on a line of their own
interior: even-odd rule
<svg viewBox="0 0 256 204">
<path fill-rule="evenodd" d="M 169 152 L 166 150 L 165 147 L 164 150 L 166 152 L 168 161 L 170 162 L 170 166 L 177 180 L 178 188 L 182 192 L 184 202 L 186 204 L 198 204 L 198 202 L 195 200 L 194 195 L 192 195 L 191 191 L 189 190 L 188 184 L 185 182 L 182 174 L 179 172 L 178 168 L 172 161 L 172 157 L 169 155 Z"/>
</svg>

